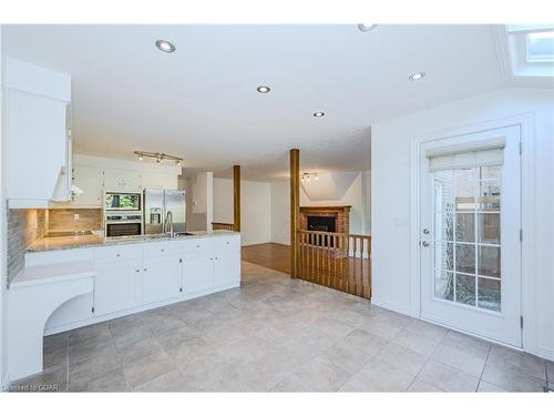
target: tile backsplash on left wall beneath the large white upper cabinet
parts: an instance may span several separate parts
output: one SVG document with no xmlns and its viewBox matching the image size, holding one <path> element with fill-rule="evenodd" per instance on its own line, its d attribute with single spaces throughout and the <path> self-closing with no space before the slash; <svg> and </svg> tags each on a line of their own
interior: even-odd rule
<svg viewBox="0 0 554 416">
<path fill-rule="evenodd" d="M 24 265 L 24 250 L 47 232 L 47 210 L 8 210 L 8 281 Z"/>
</svg>

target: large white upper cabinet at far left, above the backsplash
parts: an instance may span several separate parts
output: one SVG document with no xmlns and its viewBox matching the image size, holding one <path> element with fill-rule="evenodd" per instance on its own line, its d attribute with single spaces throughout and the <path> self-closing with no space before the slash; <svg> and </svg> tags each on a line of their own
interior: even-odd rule
<svg viewBox="0 0 554 416">
<path fill-rule="evenodd" d="M 70 199 L 71 77 L 6 60 L 9 207 L 48 207 Z"/>
</svg>

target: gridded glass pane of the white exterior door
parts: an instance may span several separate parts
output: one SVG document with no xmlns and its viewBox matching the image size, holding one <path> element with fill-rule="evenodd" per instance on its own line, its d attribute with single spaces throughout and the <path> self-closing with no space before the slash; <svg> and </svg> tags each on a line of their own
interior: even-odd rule
<svg viewBox="0 0 554 416">
<path fill-rule="evenodd" d="M 501 311 L 501 171 L 433 172 L 437 298 Z"/>
</svg>

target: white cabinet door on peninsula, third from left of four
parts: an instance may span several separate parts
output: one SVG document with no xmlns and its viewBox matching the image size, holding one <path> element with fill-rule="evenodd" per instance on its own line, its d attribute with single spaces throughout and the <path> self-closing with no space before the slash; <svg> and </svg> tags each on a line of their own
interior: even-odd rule
<svg viewBox="0 0 554 416">
<path fill-rule="evenodd" d="M 214 257 L 212 251 L 185 255 L 183 260 L 183 290 L 194 293 L 214 286 Z"/>
</svg>

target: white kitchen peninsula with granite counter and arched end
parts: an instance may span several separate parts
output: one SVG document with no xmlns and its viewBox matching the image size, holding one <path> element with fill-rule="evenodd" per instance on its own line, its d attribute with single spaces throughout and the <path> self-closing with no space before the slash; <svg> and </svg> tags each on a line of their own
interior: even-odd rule
<svg viewBox="0 0 554 416">
<path fill-rule="evenodd" d="M 28 248 L 10 283 L 12 379 L 42 371 L 43 335 L 240 285 L 236 232 L 57 239 Z"/>
</svg>

